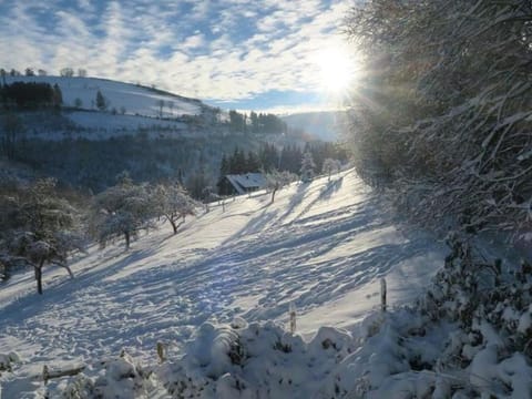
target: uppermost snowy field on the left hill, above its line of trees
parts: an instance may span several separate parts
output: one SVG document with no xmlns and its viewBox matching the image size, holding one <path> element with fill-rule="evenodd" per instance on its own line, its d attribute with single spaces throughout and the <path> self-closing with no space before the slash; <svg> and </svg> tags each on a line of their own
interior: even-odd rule
<svg viewBox="0 0 532 399">
<path fill-rule="evenodd" d="M 58 84 L 63 94 L 63 104 L 74 106 L 75 99 L 82 102 L 81 109 L 95 110 L 96 93 L 100 92 L 109 102 L 109 110 L 125 109 L 126 114 L 157 116 L 158 102 L 173 102 L 172 109 L 163 108 L 163 116 L 200 114 L 202 103 L 198 100 L 182 98 L 171 93 L 154 91 L 149 88 L 98 78 L 63 78 L 63 76 L 6 76 L 6 83 L 44 82 Z"/>
</svg>

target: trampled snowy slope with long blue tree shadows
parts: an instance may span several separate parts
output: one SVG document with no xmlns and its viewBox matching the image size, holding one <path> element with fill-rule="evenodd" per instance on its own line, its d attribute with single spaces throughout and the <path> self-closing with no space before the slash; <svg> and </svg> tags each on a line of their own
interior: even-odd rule
<svg viewBox="0 0 532 399">
<path fill-rule="evenodd" d="M 444 254 L 433 237 L 400 231 L 352 171 L 293 184 L 273 204 L 265 193 L 236 197 L 175 236 L 161 225 L 129 252 L 91 247 L 73 262 L 74 279 L 49 268 L 42 296 L 31 273 L 0 286 L 0 354 L 22 359 L 1 375 L 1 398 L 39 397 L 43 365 L 95 364 L 122 349 L 153 365 L 157 341 L 182 356 L 206 321 L 287 325 L 290 304 L 307 341 L 324 325 L 355 330 L 378 308 L 381 277 L 388 303 L 407 304 Z"/>
</svg>

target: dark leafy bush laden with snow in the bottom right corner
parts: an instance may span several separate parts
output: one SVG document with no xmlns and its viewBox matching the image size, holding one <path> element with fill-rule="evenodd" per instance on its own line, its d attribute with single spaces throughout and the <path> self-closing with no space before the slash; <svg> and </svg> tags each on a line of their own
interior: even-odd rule
<svg viewBox="0 0 532 399">
<path fill-rule="evenodd" d="M 483 260 L 457 236 L 444 268 L 419 301 L 431 320 L 457 324 L 439 368 L 467 371 L 479 392 L 497 397 L 532 395 L 532 266 L 504 274 L 501 260 Z M 466 386 L 466 385 L 464 385 Z"/>
</svg>

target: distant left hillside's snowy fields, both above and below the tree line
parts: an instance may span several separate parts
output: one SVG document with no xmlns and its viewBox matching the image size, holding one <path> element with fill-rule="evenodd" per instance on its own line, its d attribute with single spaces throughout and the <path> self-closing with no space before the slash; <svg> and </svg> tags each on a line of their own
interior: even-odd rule
<svg viewBox="0 0 532 399">
<path fill-rule="evenodd" d="M 214 109 L 200 100 L 137 84 L 98 78 L 6 76 L 8 84 L 17 81 L 58 84 L 61 89 L 64 112 L 60 116 L 42 112 L 21 114 L 31 136 L 45 140 L 104 140 L 139 132 L 153 137 L 198 136 L 206 132 L 200 132 L 191 120 L 203 115 L 203 122 L 209 124 L 215 117 Z M 96 108 L 98 92 L 105 99 L 104 112 Z M 208 132 L 213 131 L 216 129 Z"/>
</svg>

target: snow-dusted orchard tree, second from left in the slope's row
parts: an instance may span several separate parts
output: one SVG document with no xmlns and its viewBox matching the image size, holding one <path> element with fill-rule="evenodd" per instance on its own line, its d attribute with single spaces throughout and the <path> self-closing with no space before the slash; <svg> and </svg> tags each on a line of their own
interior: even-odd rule
<svg viewBox="0 0 532 399">
<path fill-rule="evenodd" d="M 156 203 L 145 184 L 134 184 L 127 174 L 119 177 L 115 186 L 94 197 L 90 232 L 102 245 L 123 236 L 125 248 L 143 229 L 154 227 Z"/>
</svg>

